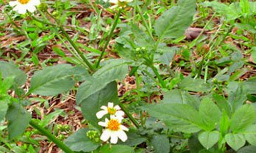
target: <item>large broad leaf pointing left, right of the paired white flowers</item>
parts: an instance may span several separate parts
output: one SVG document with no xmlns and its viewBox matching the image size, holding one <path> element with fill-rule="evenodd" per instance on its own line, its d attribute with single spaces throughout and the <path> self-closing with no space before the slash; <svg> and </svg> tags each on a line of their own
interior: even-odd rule
<svg viewBox="0 0 256 153">
<path fill-rule="evenodd" d="M 176 132 L 196 133 L 204 128 L 199 113 L 187 104 L 155 104 L 147 108 L 151 116 Z"/>
</svg>

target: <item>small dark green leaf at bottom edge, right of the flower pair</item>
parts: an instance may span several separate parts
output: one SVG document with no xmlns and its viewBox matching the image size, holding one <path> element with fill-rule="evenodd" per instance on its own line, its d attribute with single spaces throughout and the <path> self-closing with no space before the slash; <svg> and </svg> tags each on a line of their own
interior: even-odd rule
<svg viewBox="0 0 256 153">
<path fill-rule="evenodd" d="M 156 153 L 168 153 L 170 152 L 169 138 L 165 135 L 154 135 L 151 143 Z"/>
</svg>

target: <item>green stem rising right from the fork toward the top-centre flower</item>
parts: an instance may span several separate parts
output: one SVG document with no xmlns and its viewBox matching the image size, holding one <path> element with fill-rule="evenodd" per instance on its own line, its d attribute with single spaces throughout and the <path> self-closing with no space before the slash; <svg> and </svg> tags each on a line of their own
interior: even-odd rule
<svg viewBox="0 0 256 153">
<path fill-rule="evenodd" d="M 108 37 L 108 39 L 106 40 L 105 45 L 104 45 L 104 47 L 103 47 L 103 49 L 102 49 L 102 51 L 101 51 L 101 54 L 100 54 L 100 56 L 99 56 L 99 59 L 98 59 L 98 61 L 97 61 L 97 63 L 96 63 L 96 68 L 99 67 L 100 60 L 102 59 L 102 57 L 103 57 L 103 55 L 104 55 L 104 53 L 105 53 L 105 50 L 106 50 L 106 48 L 107 48 L 108 45 L 109 45 L 110 39 L 111 39 L 111 37 L 112 37 L 112 35 L 113 35 L 113 33 L 114 33 L 114 30 L 116 29 L 117 22 L 118 22 L 118 19 L 119 19 L 120 14 L 121 14 L 121 11 L 122 11 L 122 9 L 119 9 L 119 10 L 118 10 L 118 13 L 117 13 L 117 16 L 116 16 L 116 18 L 115 18 L 114 24 L 113 24 L 113 26 L 112 26 L 112 28 L 111 28 L 111 30 L 110 30 L 109 37 Z"/>
</svg>

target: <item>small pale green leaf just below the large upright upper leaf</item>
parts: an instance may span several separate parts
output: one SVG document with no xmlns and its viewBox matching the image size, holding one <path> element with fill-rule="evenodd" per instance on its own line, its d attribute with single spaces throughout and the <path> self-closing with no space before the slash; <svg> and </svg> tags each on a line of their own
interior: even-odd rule
<svg viewBox="0 0 256 153">
<path fill-rule="evenodd" d="M 174 55 L 179 49 L 176 47 L 162 47 L 157 49 L 154 58 L 165 65 L 169 65 L 173 61 Z"/>
</svg>

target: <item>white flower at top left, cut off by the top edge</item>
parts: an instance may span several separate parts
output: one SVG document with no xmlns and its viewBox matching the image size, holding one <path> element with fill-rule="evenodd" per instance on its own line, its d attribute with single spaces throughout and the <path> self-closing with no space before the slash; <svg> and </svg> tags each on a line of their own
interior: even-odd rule
<svg viewBox="0 0 256 153">
<path fill-rule="evenodd" d="M 19 14 L 25 14 L 27 10 L 32 13 L 36 9 L 35 6 L 39 4 L 39 0 L 17 0 L 9 2 L 9 5 L 14 7 L 13 10 L 17 11 Z"/>
</svg>

